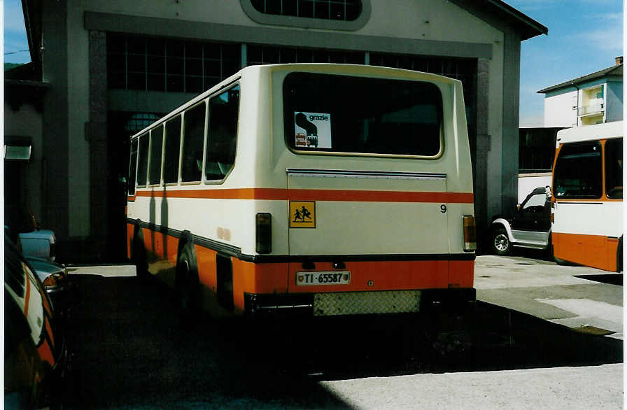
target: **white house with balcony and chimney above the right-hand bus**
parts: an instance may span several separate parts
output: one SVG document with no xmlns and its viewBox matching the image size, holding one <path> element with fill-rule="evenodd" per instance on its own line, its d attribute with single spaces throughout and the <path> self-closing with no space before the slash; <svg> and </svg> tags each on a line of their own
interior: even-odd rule
<svg viewBox="0 0 627 410">
<path fill-rule="evenodd" d="M 623 119 L 623 57 L 614 66 L 538 91 L 544 94 L 544 127 Z"/>
</svg>

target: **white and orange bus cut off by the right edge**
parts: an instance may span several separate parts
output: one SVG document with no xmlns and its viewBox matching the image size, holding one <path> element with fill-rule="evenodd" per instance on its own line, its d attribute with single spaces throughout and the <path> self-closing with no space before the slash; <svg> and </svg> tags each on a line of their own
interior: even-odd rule
<svg viewBox="0 0 627 410">
<path fill-rule="evenodd" d="M 623 270 L 622 121 L 558 132 L 552 201 L 558 260 Z"/>
</svg>

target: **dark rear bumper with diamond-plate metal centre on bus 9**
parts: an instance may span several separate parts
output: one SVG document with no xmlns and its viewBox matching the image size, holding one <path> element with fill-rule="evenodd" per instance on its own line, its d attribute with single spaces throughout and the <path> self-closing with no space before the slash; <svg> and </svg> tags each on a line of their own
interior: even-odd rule
<svg viewBox="0 0 627 410">
<path fill-rule="evenodd" d="M 320 299 L 320 295 L 335 297 L 329 302 L 328 299 Z M 476 299 L 477 292 L 474 288 L 334 292 L 331 294 L 245 293 L 244 311 L 249 317 L 425 313 L 433 309 L 463 311 Z"/>
</svg>

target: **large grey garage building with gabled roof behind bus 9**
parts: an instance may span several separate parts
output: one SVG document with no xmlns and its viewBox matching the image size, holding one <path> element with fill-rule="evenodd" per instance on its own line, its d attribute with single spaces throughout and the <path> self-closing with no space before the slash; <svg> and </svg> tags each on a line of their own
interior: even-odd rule
<svg viewBox="0 0 627 410">
<path fill-rule="evenodd" d="M 521 41 L 499 0 L 22 0 L 31 64 L 6 80 L 11 202 L 59 259 L 125 257 L 128 136 L 251 64 L 341 62 L 463 81 L 479 234 L 517 201 Z M 13 140 L 11 140 L 13 141 Z M 25 142 L 24 142 L 25 141 Z"/>
</svg>

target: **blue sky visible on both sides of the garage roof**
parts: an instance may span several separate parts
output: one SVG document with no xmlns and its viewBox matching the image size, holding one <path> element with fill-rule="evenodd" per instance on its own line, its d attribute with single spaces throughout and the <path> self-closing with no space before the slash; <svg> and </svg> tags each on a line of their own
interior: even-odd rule
<svg viewBox="0 0 627 410">
<path fill-rule="evenodd" d="M 1 1 L 1 0 L 0 0 Z M 521 127 L 542 126 L 545 87 L 614 65 L 623 55 L 621 0 L 505 0 L 549 29 L 521 43 Z M 4 62 L 30 61 L 20 0 L 4 0 Z M 25 51 L 24 51 L 25 50 Z"/>
</svg>

